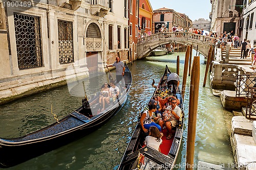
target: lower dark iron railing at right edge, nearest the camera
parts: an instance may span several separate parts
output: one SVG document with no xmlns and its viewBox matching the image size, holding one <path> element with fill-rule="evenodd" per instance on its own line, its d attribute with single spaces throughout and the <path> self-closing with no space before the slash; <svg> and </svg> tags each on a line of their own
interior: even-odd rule
<svg viewBox="0 0 256 170">
<path fill-rule="evenodd" d="M 256 87 L 248 88 L 245 117 L 256 119 Z"/>
</svg>

